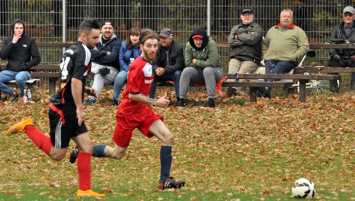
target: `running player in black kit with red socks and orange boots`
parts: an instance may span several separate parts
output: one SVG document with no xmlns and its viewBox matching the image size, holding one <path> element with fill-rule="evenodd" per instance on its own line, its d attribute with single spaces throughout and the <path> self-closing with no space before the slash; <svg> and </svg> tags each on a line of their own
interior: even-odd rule
<svg viewBox="0 0 355 201">
<path fill-rule="evenodd" d="M 50 98 L 48 112 L 50 137 L 34 127 L 31 118 L 11 126 L 6 132 L 8 136 L 14 133 L 26 133 L 27 136 L 53 160 L 62 160 L 68 150 L 70 139 L 78 147 L 79 189 L 77 196 L 105 196 L 91 190 L 91 156 L 92 143 L 83 121 L 82 102 L 84 92 L 97 96 L 93 88 L 85 86 L 86 76 L 90 73 L 91 53 L 99 41 L 100 25 L 97 19 L 86 19 L 79 26 L 79 38 L 65 51 L 60 64 L 60 88 Z"/>
</svg>

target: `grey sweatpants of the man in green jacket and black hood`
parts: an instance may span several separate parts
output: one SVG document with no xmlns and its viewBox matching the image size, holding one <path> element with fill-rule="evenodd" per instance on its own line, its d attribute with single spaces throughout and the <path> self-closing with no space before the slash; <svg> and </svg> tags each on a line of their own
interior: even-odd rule
<svg viewBox="0 0 355 201">
<path fill-rule="evenodd" d="M 223 77 L 221 68 L 207 67 L 204 69 L 196 69 L 186 67 L 180 77 L 179 94 L 181 99 L 186 98 L 187 90 L 189 90 L 190 82 L 193 84 L 206 84 L 208 98 L 214 99 L 216 83 Z"/>
</svg>

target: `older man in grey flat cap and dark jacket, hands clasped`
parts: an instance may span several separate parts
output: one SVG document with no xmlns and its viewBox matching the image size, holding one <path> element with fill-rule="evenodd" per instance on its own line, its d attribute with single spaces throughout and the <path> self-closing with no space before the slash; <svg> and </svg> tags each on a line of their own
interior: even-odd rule
<svg viewBox="0 0 355 201">
<path fill-rule="evenodd" d="M 170 28 L 164 28 L 160 34 L 157 57 L 153 67 L 154 80 L 149 91 L 149 97 L 154 98 L 157 81 L 174 81 L 175 97 L 179 100 L 179 83 L 182 70 L 185 66 L 184 47 L 174 41 Z"/>
</svg>

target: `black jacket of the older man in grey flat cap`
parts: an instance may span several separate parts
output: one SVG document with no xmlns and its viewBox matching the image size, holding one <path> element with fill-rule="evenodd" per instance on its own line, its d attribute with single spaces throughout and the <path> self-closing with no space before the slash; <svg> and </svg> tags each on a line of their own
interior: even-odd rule
<svg viewBox="0 0 355 201">
<path fill-rule="evenodd" d="M 174 40 L 169 45 L 169 61 L 171 65 L 165 65 L 166 52 L 162 43 L 158 46 L 157 57 L 155 58 L 154 72 L 157 68 L 164 68 L 165 74 L 175 73 L 178 70 L 183 70 L 185 66 L 184 47 Z"/>
</svg>

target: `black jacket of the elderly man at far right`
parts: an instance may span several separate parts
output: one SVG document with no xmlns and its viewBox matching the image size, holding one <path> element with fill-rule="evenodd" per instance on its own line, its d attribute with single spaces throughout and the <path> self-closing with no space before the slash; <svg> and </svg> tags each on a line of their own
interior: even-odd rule
<svg viewBox="0 0 355 201">
<path fill-rule="evenodd" d="M 349 35 L 346 35 L 344 24 L 345 22 L 342 22 L 334 26 L 331 36 L 327 38 L 327 43 L 355 43 L 355 22 L 353 22 Z M 329 55 L 331 60 L 334 55 L 339 55 L 342 59 L 349 59 L 355 55 L 355 49 L 329 49 Z"/>
</svg>

